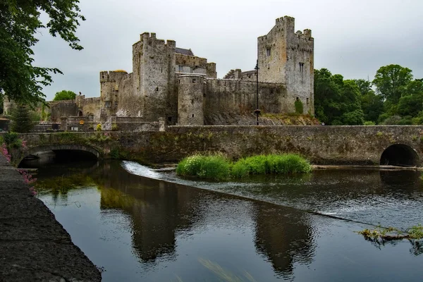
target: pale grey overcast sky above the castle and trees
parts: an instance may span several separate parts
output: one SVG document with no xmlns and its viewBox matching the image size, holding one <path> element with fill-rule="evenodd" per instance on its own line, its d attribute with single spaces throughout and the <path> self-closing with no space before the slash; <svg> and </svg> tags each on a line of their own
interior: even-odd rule
<svg viewBox="0 0 423 282">
<path fill-rule="evenodd" d="M 80 8 L 84 50 L 46 30 L 39 35 L 36 65 L 64 73 L 44 88 L 48 100 L 60 90 L 99 97 L 99 72 L 132 72 L 132 45 L 142 32 L 216 63 L 219 78 L 232 68 L 252 70 L 257 37 L 282 16 L 295 18 L 295 30 L 312 30 L 314 68 L 372 80 L 379 67 L 398 63 L 423 78 L 423 0 L 80 0 Z"/>
</svg>

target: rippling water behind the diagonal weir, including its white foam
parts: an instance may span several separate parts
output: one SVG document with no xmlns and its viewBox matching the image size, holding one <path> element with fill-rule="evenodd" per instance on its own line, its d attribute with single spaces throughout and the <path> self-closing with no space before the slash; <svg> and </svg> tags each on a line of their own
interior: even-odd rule
<svg viewBox="0 0 423 282">
<path fill-rule="evenodd" d="M 416 171 L 314 171 L 303 176 L 255 176 L 240 182 L 183 179 L 132 161 L 138 176 L 263 200 L 344 219 L 408 228 L 423 223 L 423 182 Z"/>
</svg>

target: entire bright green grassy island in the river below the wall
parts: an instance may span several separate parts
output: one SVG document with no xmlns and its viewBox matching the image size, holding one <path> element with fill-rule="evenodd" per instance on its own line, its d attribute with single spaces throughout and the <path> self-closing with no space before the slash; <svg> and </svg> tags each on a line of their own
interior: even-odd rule
<svg viewBox="0 0 423 282">
<path fill-rule="evenodd" d="M 235 163 L 223 154 L 195 154 L 179 162 L 176 173 L 214 180 L 243 178 L 250 174 L 309 173 L 312 166 L 298 154 L 267 154 L 239 159 Z"/>
</svg>

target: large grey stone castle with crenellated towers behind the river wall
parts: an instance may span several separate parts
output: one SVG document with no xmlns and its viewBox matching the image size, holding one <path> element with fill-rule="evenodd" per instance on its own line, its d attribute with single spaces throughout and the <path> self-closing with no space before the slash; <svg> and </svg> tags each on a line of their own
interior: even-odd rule
<svg viewBox="0 0 423 282">
<path fill-rule="evenodd" d="M 299 100 L 304 114 L 314 114 L 314 39 L 311 30 L 294 28 L 294 18 L 277 18 L 270 32 L 257 39 L 262 113 L 295 112 Z M 145 122 L 165 118 L 168 125 L 241 124 L 254 121 L 256 75 L 235 69 L 217 79 L 215 63 L 145 32 L 133 44 L 133 73 L 100 72 L 99 98 L 80 95 L 51 102 L 51 118 L 90 115 L 106 122 L 116 115 Z"/>
</svg>

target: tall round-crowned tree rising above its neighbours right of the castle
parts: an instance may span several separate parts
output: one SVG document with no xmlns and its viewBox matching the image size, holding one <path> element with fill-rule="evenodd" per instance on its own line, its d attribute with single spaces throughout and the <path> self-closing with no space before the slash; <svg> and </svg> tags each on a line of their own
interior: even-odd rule
<svg viewBox="0 0 423 282">
<path fill-rule="evenodd" d="M 377 93 L 387 101 L 396 104 L 401 97 L 401 90 L 412 80 L 410 68 L 399 65 L 382 66 L 374 75 L 373 85 Z"/>
</svg>

